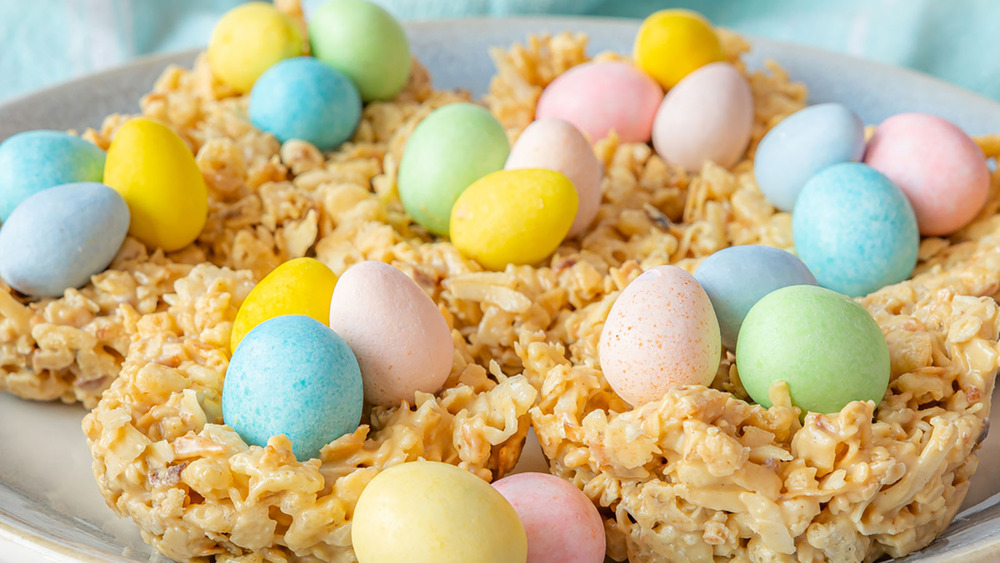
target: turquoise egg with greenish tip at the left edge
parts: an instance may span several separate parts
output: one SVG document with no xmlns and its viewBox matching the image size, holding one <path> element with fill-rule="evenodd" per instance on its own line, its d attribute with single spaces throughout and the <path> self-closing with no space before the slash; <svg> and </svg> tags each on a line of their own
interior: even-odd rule
<svg viewBox="0 0 1000 563">
<path fill-rule="evenodd" d="M 0 143 L 0 221 L 46 188 L 100 182 L 104 151 L 62 131 L 25 131 Z"/>
</svg>

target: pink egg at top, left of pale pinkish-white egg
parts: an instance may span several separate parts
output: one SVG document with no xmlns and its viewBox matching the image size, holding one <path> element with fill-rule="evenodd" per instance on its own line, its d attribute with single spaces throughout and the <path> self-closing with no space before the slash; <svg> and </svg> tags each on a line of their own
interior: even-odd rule
<svg viewBox="0 0 1000 563">
<path fill-rule="evenodd" d="M 558 118 L 599 141 L 614 131 L 626 143 L 647 143 L 663 90 L 621 61 L 588 62 L 560 74 L 538 98 L 535 119 Z"/>
</svg>

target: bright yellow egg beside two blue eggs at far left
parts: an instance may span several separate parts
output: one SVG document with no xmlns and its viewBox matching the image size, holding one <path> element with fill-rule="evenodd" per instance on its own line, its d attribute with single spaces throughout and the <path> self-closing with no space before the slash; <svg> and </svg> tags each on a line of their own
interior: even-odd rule
<svg viewBox="0 0 1000 563">
<path fill-rule="evenodd" d="M 125 198 L 129 234 L 147 246 L 178 250 L 208 218 L 208 188 L 188 146 L 169 127 L 136 118 L 115 133 L 104 183 Z"/>
</svg>

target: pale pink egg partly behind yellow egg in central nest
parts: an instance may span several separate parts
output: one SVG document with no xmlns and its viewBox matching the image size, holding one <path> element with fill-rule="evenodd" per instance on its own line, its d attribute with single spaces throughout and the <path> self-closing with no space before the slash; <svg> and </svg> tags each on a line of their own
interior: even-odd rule
<svg viewBox="0 0 1000 563">
<path fill-rule="evenodd" d="M 573 182 L 579 199 L 576 218 L 567 237 L 575 237 L 590 225 L 601 206 L 604 166 L 580 130 L 561 119 L 540 119 L 524 129 L 510 149 L 505 170 L 545 168 Z"/>
</svg>

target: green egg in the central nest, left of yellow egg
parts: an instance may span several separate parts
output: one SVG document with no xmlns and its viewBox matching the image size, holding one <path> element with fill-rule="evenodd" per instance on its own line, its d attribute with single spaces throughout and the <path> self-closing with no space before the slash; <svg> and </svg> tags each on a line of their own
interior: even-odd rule
<svg viewBox="0 0 1000 563">
<path fill-rule="evenodd" d="M 503 125 L 475 104 L 449 104 L 425 117 L 399 163 L 399 199 L 413 220 L 448 234 L 455 200 L 473 182 L 503 168 L 510 143 Z"/>
</svg>

